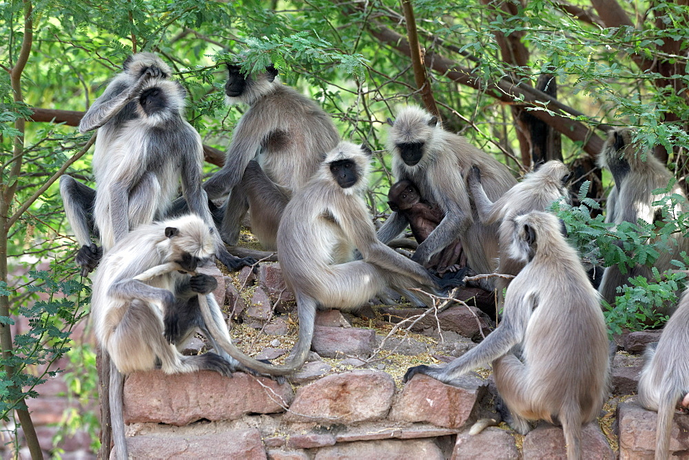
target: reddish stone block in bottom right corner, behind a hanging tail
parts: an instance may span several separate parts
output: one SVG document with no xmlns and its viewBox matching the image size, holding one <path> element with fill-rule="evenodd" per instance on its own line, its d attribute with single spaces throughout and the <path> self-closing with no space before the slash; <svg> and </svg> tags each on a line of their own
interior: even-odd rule
<svg viewBox="0 0 689 460">
<path fill-rule="evenodd" d="M 617 405 L 620 460 L 652 459 L 655 452 L 657 412 L 629 399 Z M 670 436 L 672 458 L 689 458 L 689 414 L 675 414 Z"/>
</svg>

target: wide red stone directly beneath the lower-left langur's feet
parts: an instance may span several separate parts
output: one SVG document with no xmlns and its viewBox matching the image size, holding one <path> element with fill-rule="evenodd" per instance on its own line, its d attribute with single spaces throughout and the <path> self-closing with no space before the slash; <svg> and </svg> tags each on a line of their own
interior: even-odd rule
<svg viewBox="0 0 689 460">
<path fill-rule="evenodd" d="M 234 420 L 249 413 L 282 412 L 292 396 L 288 384 L 245 373 L 229 378 L 210 370 L 176 375 L 150 370 L 126 379 L 124 419 L 126 424 L 177 426 L 199 419 Z"/>
</svg>

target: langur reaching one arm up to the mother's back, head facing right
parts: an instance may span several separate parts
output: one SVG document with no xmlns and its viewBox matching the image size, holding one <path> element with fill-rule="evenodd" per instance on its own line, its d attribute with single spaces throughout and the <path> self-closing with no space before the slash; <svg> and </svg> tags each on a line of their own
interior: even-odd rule
<svg viewBox="0 0 689 460">
<path fill-rule="evenodd" d="M 569 200 L 567 182 L 571 177 L 572 173 L 564 163 L 551 160 L 526 174 L 521 182 L 495 202 L 491 202 L 482 186 L 482 171 L 477 166 L 471 168 L 466 182 L 480 222 L 486 226 L 500 224 L 500 261 L 497 273 L 518 275 L 526 265 L 526 261 L 512 258 L 509 251 L 514 235 L 513 218 L 531 211 L 546 211 L 548 205 L 561 197 Z M 510 281 L 505 278 L 495 279 L 495 289 L 501 300 L 502 290 Z"/>
</svg>

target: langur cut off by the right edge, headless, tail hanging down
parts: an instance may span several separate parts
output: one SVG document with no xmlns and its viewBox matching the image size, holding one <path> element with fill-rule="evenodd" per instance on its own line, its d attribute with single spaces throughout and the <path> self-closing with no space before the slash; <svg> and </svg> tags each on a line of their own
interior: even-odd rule
<svg viewBox="0 0 689 460">
<path fill-rule="evenodd" d="M 666 324 L 660 341 L 646 348 L 646 364 L 639 378 L 639 402 L 658 412 L 655 458 L 670 458 L 670 435 L 675 406 L 689 408 L 689 293 Z"/>
</svg>

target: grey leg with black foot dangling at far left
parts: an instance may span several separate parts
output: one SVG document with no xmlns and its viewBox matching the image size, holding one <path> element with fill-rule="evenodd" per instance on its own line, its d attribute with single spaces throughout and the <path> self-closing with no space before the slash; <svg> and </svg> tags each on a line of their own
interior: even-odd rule
<svg viewBox="0 0 689 460">
<path fill-rule="evenodd" d="M 96 246 L 91 236 L 98 236 L 93 218 L 96 204 L 96 191 L 66 174 L 60 178 L 60 195 L 65 207 L 67 220 L 74 231 L 81 248 L 74 262 L 81 266 L 81 275 L 86 276 L 98 266 L 103 257 L 103 248 Z"/>
</svg>

